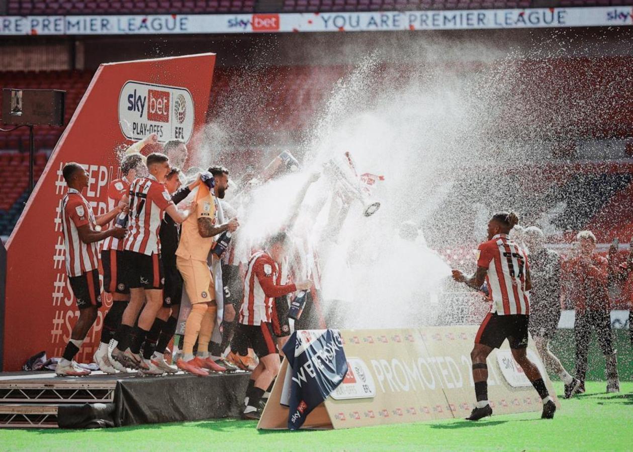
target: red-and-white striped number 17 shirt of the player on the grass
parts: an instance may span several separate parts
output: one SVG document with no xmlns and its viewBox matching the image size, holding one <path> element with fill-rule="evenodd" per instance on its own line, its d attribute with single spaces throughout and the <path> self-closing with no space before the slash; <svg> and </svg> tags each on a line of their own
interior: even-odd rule
<svg viewBox="0 0 633 452">
<path fill-rule="evenodd" d="M 529 271 L 527 255 L 505 234 L 484 241 L 477 248 L 477 266 L 488 269 L 486 282 L 492 298 L 490 312 L 498 315 L 530 314 L 530 294 L 525 290 Z"/>
</svg>

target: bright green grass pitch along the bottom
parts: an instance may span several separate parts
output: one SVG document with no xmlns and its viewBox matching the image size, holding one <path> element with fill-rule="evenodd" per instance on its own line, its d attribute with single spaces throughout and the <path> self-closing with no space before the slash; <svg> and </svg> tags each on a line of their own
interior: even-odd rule
<svg viewBox="0 0 633 452">
<path fill-rule="evenodd" d="M 560 394 L 563 385 L 555 382 Z M 0 430 L 0 450 L 325 451 L 325 450 L 630 450 L 633 382 L 606 394 L 605 382 L 561 400 L 553 420 L 540 413 L 499 415 L 479 422 L 444 420 L 339 431 L 257 431 L 256 423 L 208 420 L 116 429 Z"/>
</svg>

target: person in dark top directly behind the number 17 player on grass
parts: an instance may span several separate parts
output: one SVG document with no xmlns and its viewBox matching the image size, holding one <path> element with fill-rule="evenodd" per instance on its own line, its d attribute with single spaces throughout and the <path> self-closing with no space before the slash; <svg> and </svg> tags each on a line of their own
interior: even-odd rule
<svg viewBox="0 0 633 452">
<path fill-rule="evenodd" d="M 545 235 L 536 226 L 526 228 L 523 239 L 529 250 L 532 276 L 529 331 L 541 359 L 548 370 L 555 372 L 565 382 L 565 398 L 570 398 L 580 388 L 580 380 L 570 376 L 549 350 L 549 340 L 556 334 L 560 320 L 560 255 L 545 247 Z"/>
</svg>

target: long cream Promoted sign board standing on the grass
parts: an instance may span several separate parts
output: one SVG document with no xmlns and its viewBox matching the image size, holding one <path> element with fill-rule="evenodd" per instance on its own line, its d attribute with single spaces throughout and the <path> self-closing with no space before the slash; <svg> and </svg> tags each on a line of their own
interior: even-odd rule
<svg viewBox="0 0 633 452">
<path fill-rule="evenodd" d="M 303 428 L 344 429 L 467 417 L 475 403 L 470 360 L 475 334 L 477 326 L 342 330 L 348 372 L 308 415 Z M 528 355 L 556 400 L 532 341 Z M 539 395 L 512 359 L 507 343 L 491 353 L 487 364 L 488 398 L 495 414 L 541 410 Z M 287 427 L 289 410 L 279 403 L 287 369 L 284 361 L 260 429 Z"/>
</svg>

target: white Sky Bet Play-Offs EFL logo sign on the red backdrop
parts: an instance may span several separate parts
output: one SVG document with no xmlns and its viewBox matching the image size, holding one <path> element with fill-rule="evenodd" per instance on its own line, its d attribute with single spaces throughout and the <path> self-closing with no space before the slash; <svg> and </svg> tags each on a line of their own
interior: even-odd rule
<svg viewBox="0 0 633 452">
<path fill-rule="evenodd" d="M 194 101 L 185 88 L 129 81 L 119 95 L 118 118 L 123 135 L 130 140 L 156 133 L 162 143 L 186 143 L 193 132 Z"/>
</svg>

